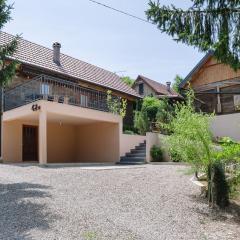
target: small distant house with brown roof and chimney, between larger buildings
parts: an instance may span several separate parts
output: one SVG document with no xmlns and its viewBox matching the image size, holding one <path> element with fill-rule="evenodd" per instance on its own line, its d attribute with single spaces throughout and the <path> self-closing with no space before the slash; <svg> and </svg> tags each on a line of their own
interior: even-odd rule
<svg viewBox="0 0 240 240">
<path fill-rule="evenodd" d="M 164 85 L 141 75 L 137 77 L 132 88 L 143 97 L 155 96 L 157 98 L 175 100 L 182 98 L 171 88 L 171 82 L 167 82 L 166 85 Z"/>
</svg>

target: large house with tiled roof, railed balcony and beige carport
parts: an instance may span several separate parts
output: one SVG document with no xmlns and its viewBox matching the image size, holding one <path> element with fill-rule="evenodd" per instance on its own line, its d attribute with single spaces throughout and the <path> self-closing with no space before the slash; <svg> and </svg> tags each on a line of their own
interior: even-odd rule
<svg viewBox="0 0 240 240">
<path fill-rule="evenodd" d="M 0 32 L 0 45 L 13 36 Z M 126 122 L 140 96 L 114 73 L 20 39 L 9 57 L 19 66 L 4 90 L 1 150 L 4 162 L 116 162 L 122 118 L 108 112 L 107 90 L 127 99 Z"/>
</svg>

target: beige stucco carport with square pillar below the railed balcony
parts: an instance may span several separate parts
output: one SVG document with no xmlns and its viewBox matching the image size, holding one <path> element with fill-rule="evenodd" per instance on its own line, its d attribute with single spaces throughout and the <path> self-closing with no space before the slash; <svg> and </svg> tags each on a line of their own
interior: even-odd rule
<svg viewBox="0 0 240 240">
<path fill-rule="evenodd" d="M 119 161 L 120 116 L 47 101 L 34 104 L 39 111 L 28 104 L 3 114 L 4 162 L 22 161 L 23 124 L 39 126 L 41 164 Z"/>
</svg>

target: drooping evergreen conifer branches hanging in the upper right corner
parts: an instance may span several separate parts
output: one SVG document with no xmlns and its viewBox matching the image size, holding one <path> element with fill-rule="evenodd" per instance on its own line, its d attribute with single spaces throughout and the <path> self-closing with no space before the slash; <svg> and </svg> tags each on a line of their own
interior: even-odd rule
<svg viewBox="0 0 240 240">
<path fill-rule="evenodd" d="M 191 0 L 188 9 L 149 2 L 150 21 L 175 41 L 214 51 L 217 60 L 240 68 L 240 0 Z"/>
</svg>

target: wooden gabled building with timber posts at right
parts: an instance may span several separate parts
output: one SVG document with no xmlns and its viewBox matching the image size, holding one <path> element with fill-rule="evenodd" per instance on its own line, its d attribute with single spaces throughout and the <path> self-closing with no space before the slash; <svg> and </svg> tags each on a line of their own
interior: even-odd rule
<svg viewBox="0 0 240 240">
<path fill-rule="evenodd" d="M 240 70 L 218 62 L 208 52 L 180 84 L 195 92 L 195 105 L 206 113 L 230 114 L 240 111 Z"/>
</svg>

